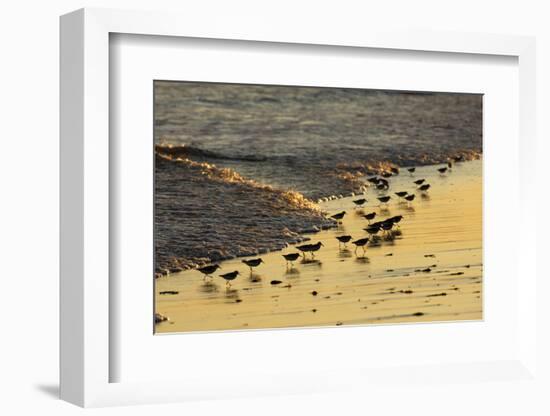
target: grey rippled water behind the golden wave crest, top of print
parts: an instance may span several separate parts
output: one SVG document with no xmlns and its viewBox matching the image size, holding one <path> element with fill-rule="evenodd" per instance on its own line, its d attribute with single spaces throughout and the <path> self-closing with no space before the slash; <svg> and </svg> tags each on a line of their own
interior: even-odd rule
<svg viewBox="0 0 550 416">
<path fill-rule="evenodd" d="M 481 152 L 482 96 L 157 81 L 155 141 L 316 199 L 349 166 Z"/>
</svg>

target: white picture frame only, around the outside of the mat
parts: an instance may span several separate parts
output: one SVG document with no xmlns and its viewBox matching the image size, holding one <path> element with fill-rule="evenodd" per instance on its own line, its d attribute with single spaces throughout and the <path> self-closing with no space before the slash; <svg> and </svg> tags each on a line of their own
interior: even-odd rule
<svg viewBox="0 0 550 416">
<path fill-rule="evenodd" d="M 219 20 L 205 26 L 192 16 L 82 9 L 61 18 L 61 398 L 80 406 L 185 401 L 283 393 L 338 391 L 356 385 L 372 388 L 396 375 L 429 385 L 446 373 L 447 380 L 479 383 L 486 375 L 502 374 L 511 382 L 537 383 L 535 228 L 525 226 L 518 244 L 522 281 L 517 293 L 517 355 L 506 360 L 457 365 L 422 365 L 399 372 L 370 369 L 331 370 L 324 379 L 282 372 L 270 380 L 254 380 L 222 391 L 220 384 L 205 389 L 205 380 L 112 382 L 110 365 L 109 253 L 109 36 L 123 33 L 282 44 L 429 51 L 451 54 L 504 55 L 519 65 L 519 219 L 533 220 L 533 184 L 529 167 L 535 160 L 535 40 L 509 35 L 399 32 L 349 28 L 337 33 L 314 24 L 304 31 L 249 22 Z M 510 273 L 518 273 L 512 270 Z M 327 336 L 336 336 L 329 333 Z M 331 335 L 332 334 L 332 335 Z M 307 334 L 305 335 L 307 336 Z M 118 357 L 119 358 L 119 357 Z M 386 374 L 386 376 L 385 376 Z M 388 374 L 390 376 L 388 376 Z M 223 376 L 223 375 L 222 375 Z M 496 376 L 495 376 L 496 377 Z M 221 377 L 223 379 L 223 377 Z M 493 376 L 489 377 L 493 380 Z M 496 377 L 498 379 L 498 377 Z M 346 380 L 345 382 L 343 380 Z M 378 381 L 377 381 L 378 380 Z M 410 380 L 409 380 L 410 381 Z"/>
</svg>

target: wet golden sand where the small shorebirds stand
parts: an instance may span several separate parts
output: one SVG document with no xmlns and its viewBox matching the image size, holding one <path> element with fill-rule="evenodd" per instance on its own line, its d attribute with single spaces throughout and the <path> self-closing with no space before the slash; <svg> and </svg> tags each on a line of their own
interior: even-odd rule
<svg viewBox="0 0 550 416">
<path fill-rule="evenodd" d="M 397 203 L 395 191 L 413 192 L 412 181 L 426 178 L 429 196 L 411 205 Z M 212 282 L 196 270 L 156 280 L 156 312 L 169 318 L 157 332 L 308 327 L 397 322 L 478 320 L 482 318 L 482 162 L 464 162 L 442 176 L 435 166 L 392 178 L 389 210 L 378 207 L 377 191 L 367 191 L 364 210 L 347 197 L 326 202 L 329 213 L 346 210 L 338 229 L 321 231 L 312 241 L 325 247 L 315 261 L 288 269 L 282 252 L 263 255 L 250 275 L 241 259 L 221 263 Z M 379 218 L 403 215 L 401 235 L 368 247 L 365 257 L 353 246 L 341 250 L 336 235 L 366 236 L 364 212 Z M 218 277 L 241 272 L 230 289 Z M 271 284 L 279 280 L 279 284 Z M 165 294 L 161 294 L 161 293 Z"/>
</svg>

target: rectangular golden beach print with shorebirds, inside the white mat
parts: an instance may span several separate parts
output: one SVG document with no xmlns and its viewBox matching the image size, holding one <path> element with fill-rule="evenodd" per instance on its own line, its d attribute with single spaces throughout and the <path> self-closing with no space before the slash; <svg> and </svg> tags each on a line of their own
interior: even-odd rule
<svg viewBox="0 0 550 416">
<path fill-rule="evenodd" d="M 153 87 L 156 332 L 482 319 L 482 94 Z"/>
</svg>

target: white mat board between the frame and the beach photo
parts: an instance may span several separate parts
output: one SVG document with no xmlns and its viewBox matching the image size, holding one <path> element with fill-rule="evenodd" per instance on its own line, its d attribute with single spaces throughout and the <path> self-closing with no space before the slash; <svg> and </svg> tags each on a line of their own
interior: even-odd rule
<svg viewBox="0 0 550 416">
<path fill-rule="evenodd" d="M 308 380 L 306 374 L 336 369 L 409 368 L 508 360 L 517 355 L 516 293 L 520 282 L 510 273 L 518 264 L 515 246 L 506 242 L 509 218 L 519 212 L 514 183 L 519 177 L 516 59 L 296 45 L 260 48 L 222 41 L 172 40 L 167 45 L 160 37 L 113 38 L 110 86 L 116 98 L 110 108 L 116 128 L 111 130 L 110 140 L 116 167 L 111 171 L 111 203 L 116 207 L 112 230 L 117 238 L 110 248 L 120 260 L 111 275 L 117 287 L 113 296 L 118 323 L 112 332 L 118 339 L 114 344 L 118 344 L 115 351 L 119 357 L 116 376 L 111 372 L 113 380 L 181 380 L 182 376 L 212 374 L 225 385 L 222 376 L 230 374 L 232 385 L 241 389 L 241 382 L 255 379 L 258 386 L 262 375 L 284 371 L 292 371 L 294 380 L 300 374 Z M 151 336 L 154 79 L 483 93 L 484 209 L 490 213 L 484 218 L 484 321 L 382 325 L 368 330 Z M 510 179 L 503 182 L 502 173 Z M 507 210 L 500 209 L 502 206 Z M 144 232 L 138 236 L 132 230 Z M 500 261 L 502 257 L 508 261 Z M 186 359 L 182 359 L 182 351 Z M 254 365 L 245 367 L 246 362 Z M 215 389 L 216 381 L 208 381 L 210 390 Z M 222 390 L 228 393 L 231 387 Z"/>
</svg>

